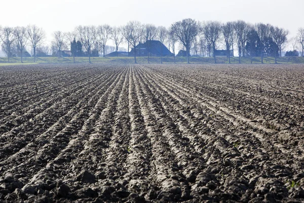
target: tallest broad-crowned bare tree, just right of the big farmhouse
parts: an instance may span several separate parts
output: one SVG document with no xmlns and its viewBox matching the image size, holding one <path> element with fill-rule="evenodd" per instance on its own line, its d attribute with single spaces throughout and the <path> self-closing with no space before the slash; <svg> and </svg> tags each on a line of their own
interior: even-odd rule
<svg viewBox="0 0 304 203">
<path fill-rule="evenodd" d="M 189 52 L 193 41 L 200 33 L 200 24 L 191 18 L 183 19 L 171 25 L 179 42 L 186 48 L 187 63 L 189 63 Z"/>
</svg>

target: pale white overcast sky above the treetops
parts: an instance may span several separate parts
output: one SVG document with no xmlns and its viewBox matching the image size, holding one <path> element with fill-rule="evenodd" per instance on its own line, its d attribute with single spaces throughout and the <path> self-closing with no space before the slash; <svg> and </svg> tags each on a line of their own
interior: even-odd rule
<svg viewBox="0 0 304 203">
<path fill-rule="evenodd" d="M 170 26 L 183 18 L 221 22 L 242 19 L 270 23 L 289 29 L 294 36 L 304 27 L 303 0 L 15 0 L 1 3 L 0 25 L 36 24 L 52 40 L 55 30 L 71 31 L 77 25 L 110 24 L 120 26 L 130 20 Z"/>
</svg>

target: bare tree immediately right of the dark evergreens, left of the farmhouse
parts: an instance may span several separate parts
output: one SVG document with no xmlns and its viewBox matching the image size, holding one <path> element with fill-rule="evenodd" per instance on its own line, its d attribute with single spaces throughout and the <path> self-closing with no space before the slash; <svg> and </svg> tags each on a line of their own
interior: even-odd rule
<svg viewBox="0 0 304 203">
<path fill-rule="evenodd" d="M 88 52 L 89 63 L 91 63 L 91 49 L 94 45 L 97 37 L 97 31 L 95 26 L 78 26 L 76 27 L 82 45 Z"/>
</svg>

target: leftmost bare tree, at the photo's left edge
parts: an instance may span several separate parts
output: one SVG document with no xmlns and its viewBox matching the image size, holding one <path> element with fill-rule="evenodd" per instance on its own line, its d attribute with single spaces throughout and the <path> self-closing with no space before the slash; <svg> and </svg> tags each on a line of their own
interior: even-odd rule
<svg viewBox="0 0 304 203">
<path fill-rule="evenodd" d="M 4 27 L 2 30 L 2 49 L 8 56 L 8 62 L 10 62 L 10 57 L 12 55 L 12 45 L 15 41 L 14 28 Z"/>
</svg>

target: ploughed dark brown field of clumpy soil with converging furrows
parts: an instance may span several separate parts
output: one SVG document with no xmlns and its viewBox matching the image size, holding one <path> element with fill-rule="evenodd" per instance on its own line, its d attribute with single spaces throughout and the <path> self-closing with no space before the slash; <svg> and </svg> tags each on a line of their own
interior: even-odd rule
<svg viewBox="0 0 304 203">
<path fill-rule="evenodd" d="M 303 65 L 0 68 L 0 202 L 303 202 Z"/>
</svg>

